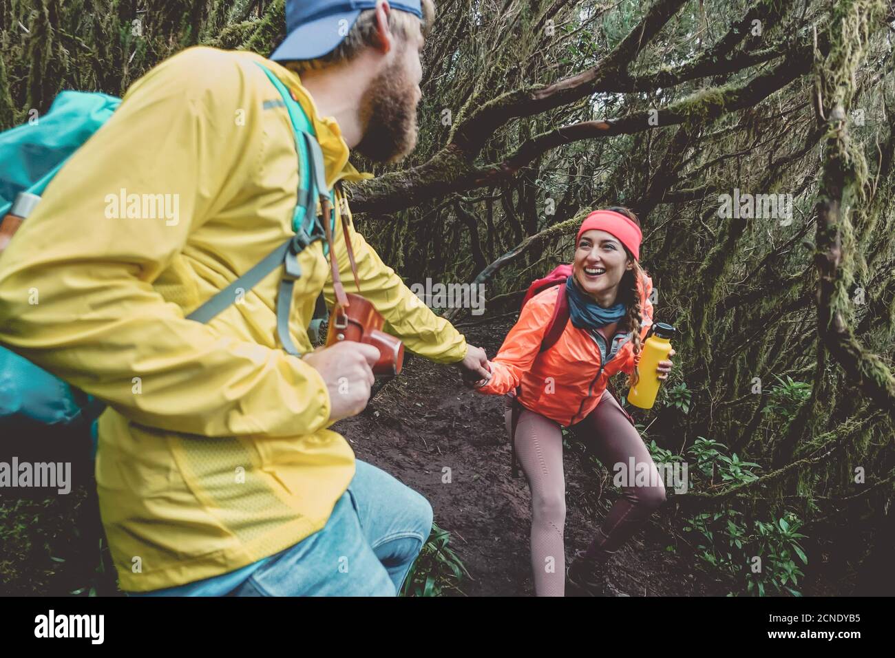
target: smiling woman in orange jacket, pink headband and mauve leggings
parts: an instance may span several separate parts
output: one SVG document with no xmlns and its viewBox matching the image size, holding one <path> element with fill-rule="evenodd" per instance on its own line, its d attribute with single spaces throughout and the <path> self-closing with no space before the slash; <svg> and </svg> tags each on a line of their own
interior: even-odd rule
<svg viewBox="0 0 895 658">
<path fill-rule="evenodd" d="M 507 395 L 508 432 L 514 396 L 520 405 L 515 449 L 532 490 L 532 568 L 539 596 L 564 595 L 566 576 L 584 594 L 611 595 L 608 560 L 665 501 L 649 450 L 607 389 L 617 372 L 628 373 L 629 384 L 639 380 L 635 366 L 652 325 L 652 279 L 640 267 L 641 239 L 640 222 L 628 209 L 596 210 L 585 218 L 571 276 L 524 304 L 490 362 L 490 379 L 475 383 L 482 393 Z M 553 345 L 541 351 L 560 286 L 569 319 Z M 670 370 L 671 362 L 662 361 L 657 376 L 664 380 Z M 623 487 L 592 543 L 575 555 L 567 572 L 560 426 L 569 427 L 607 468 L 628 470 L 633 458 L 635 473 L 651 475 L 647 485 L 637 485 L 635 473 L 628 474 L 630 486 Z"/>
</svg>

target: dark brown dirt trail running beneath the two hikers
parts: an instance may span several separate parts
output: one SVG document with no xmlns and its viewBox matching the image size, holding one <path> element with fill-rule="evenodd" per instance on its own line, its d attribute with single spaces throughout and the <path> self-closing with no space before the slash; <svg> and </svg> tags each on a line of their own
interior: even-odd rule
<svg viewBox="0 0 895 658">
<path fill-rule="evenodd" d="M 473 345 L 495 355 L 510 325 L 463 329 Z M 528 546 L 530 494 L 524 475 L 514 480 L 503 425 L 503 400 L 465 389 L 459 372 L 413 357 L 402 375 L 379 391 L 367 409 L 333 428 L 351 441 L 357 457 L 395 475 L 432 504 L 435 522 L 451 533 L 451 546 L 472 579 L 468 595 L 533 595 Z M 442 469 L 451 482 L 442 483 Z M 600 496 L 601 479 L 567 451 L 566 553 L 584 548 L 618 494 Z M 660 510 L 626 544 L 610 580 L 637 595 L 724 594 L 695 575 L 692 549 L 669 533 Z M 666 551 L 677 545 L 677 554 Z"/>
</svg>

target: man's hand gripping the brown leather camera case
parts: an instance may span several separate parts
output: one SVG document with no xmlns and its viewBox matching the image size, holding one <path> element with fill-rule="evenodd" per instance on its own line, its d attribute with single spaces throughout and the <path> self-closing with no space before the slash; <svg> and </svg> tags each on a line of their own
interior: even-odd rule
<svg viewBox="0 0 895 658">
<path fill-rule="evenodd" d="M 367 406 L 370 388 L 376 380 L 372 371 L 379 360 L 376 347 L 345 340 L 334 346 L 318 347 L 302 359 L 320 372 L 327 384 L 329 420 L 339 421 L 360 414 Z"/>
</svg>

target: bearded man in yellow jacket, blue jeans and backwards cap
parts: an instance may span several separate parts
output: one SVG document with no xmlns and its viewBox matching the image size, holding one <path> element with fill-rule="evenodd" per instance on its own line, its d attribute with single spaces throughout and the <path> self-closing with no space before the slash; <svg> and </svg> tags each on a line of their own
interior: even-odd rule
<svg viewBox="0 0 895 658">
<path fill-rule="evenodd" d="M 290 0 L 272 56 L 286 66 L 205 47 L 168 59 L 133 84 L 4 252 L 0 341 L 109 404 L 96 476 L 125 592 L 395 594 L 428 537 L 429 503 L 327 429 L 366 406 L 379 353 L 311 351 L 315 301 L 321 290 L 334 301 L 320 241 L 300 253 L 294 284 L 302 358 L 277 342 L 280 271 L 207 324 L 185 316 L 293 233 L 299 159 L 261 66 L 311 120 L 339 226 L 340 182 L 364 177 L 349 147 L 379 160 L 413 149 L 432 13 L 430 0 Z M 165 202 L 164 217 L 132 208 L 147 198 Z M 349 235 L 386 329 L 487 376 L 484 352 L 353 225 Z M 341 230 L 335 252 L 350 271 Z"/>
</svg>

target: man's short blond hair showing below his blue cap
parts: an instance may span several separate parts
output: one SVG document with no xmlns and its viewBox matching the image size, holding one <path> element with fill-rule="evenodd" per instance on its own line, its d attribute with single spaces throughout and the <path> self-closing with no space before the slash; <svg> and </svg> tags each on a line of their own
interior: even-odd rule
<svg viewBox="0 0 895 658">
<path fill-rule="evenodd" d="M 432 22 L 435 20 L 435 4 L 432 0 L 422 0 L 422 19 L 418 19 L 413 13 L 392 9 L 388 13 L 388 30 L 391 30 L 397 38 L 406 43 L 417 26 L 422 31 L 423 38 L 429 36 Z M 326 55 L 316 59 L 296 59 L 281 62 L 287 69 L 295 73 L 328 68 L 350 62 L 358 56 L 363 48 L 373 45 L 376 36 L 376 10 L 366 9 L 361 12 L 354 21 L 351 30 L 345 35 L 339 45 Z"/>
</svg>

